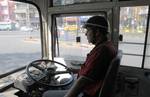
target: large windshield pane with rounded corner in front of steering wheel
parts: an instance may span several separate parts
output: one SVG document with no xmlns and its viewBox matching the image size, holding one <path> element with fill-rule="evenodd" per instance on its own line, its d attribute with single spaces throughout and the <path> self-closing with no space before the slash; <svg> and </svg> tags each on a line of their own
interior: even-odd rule
<svg viewBox="0 0 150 97">
<path fill-rule="evenodd" d="M 39 26 L 33 5 L 0 1 L 0 74 L 41 58 Z"/>
</svg>

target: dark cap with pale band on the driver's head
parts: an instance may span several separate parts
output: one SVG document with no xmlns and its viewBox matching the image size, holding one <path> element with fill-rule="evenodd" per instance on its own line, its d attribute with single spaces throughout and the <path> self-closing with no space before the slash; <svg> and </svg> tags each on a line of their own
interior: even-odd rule
<svg viewBox="0 0 150 97">
<path fill-rule="evenodd" d="M 105 19 L 105 17 L 103 17 L 103 16 L 93 16 L 87 20 L 87 22 L 84 24 L 83 27 L 84 28 L 98 27 L 98 28 L 101 28 L 105 31 L 108 31 L 108 22 Z"/>
</svg>

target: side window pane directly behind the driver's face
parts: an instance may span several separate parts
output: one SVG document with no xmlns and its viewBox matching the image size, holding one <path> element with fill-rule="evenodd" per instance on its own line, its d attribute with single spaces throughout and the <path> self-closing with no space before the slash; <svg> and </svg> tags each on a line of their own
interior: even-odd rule
<svg viewBox="0 0 150 97">
<path fill-rule="evenodd" d="M 87 53 L 94 47 L 89 44 L 82 25 L 89 16 L 57 17 L 59 57 L 65 60 L 85 61 Z"/>
</svg>

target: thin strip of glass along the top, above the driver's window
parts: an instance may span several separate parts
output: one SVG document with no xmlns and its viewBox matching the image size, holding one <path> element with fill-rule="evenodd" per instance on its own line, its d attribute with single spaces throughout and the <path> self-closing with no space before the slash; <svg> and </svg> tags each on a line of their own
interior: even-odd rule
<svg viewBox="0 0 150 97">
<path fill-rule="evenodd" d="M 53 5 L 60 6 L 60 5 L 70 5 L 70 4 L 97 2 L 97 1 L 104 2 L 104 1 L 110 1 L 110 0 L 53 0 Z"/>
</svg>

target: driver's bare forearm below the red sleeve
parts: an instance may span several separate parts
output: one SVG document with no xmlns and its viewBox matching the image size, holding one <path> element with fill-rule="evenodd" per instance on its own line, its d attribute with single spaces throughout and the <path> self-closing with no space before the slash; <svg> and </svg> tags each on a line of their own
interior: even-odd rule
<svg viewBox="0 0 150 97">
<path fill-rule="evenodd" d="M 94 82 L 92 79 L 80 76 L 64 97 L 77 97 L 82 92 L 83 88 L 92 82 Z"/>
</svg>

